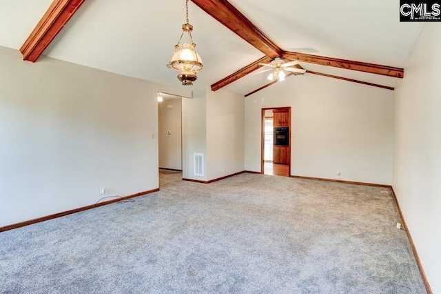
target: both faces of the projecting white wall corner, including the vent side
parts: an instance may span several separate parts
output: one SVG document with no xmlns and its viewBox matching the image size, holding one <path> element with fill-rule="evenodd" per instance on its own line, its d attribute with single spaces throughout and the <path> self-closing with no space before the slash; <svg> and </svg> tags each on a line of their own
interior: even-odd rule
<svg viewBox="0 0 441 294">
<path fill-rule="evenodd" d="M 243 95 L 209 86 L 183 98 L 183 178 L 209 181 L 244 170 Z M 204 155 L 204 176 L 194 175 L 194 153 Z"/>
</svg>

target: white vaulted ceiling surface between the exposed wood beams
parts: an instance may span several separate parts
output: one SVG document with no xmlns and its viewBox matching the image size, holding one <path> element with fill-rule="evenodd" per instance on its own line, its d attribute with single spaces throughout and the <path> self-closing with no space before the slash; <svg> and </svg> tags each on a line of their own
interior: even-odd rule
<svg viewBox="0 0 441 294">
<path fill-rule="evenodd" d="M 398 68 L 404 68 L 424 26 L 400 23 L 399 3 L 390 0 L 229 2 L 283 50 Z M 0 46 L 18 50 L 51 3 L 0 0 Z M 190 88 L 181 86 L 178 72 L 166 67 L 185 23 L 184 0 L 85 1 L 43 55 L 186 90 L 214 84 L 265 56 L 191 1 L 189 22 L 204 63 Z M 398 83 L 396 78 L 366 72 L 300 65 L 373 84 Z M 267 84 L 266 75 L 247 75 L 225 88 L 245 95 Z M 301 78 L 291 76 L 284 83 Z"/>
</svg>

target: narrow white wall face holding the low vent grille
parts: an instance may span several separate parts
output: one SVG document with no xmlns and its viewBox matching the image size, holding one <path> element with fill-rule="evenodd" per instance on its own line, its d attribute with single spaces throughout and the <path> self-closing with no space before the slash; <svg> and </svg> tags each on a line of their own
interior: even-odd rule
<svg viewBox="0 0 441 294">
<path fill-rule="evenodd" d="M 193 98 L 182 99 L 182 169 L 184 179 L 207 180 L 207 98 L 202 86 L 193 91 Z M 204 155 L 204 175 L 194 175 L 194 153 Z"/>
</svg>

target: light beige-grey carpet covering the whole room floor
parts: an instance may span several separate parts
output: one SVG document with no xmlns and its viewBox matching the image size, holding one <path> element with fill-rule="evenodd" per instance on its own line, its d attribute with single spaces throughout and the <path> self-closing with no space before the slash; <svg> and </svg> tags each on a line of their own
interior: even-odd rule
<svg viewBox="0 0 441 294">
<path fill-rule="evenodd" d="M 0 233 L 0 293 L 425 293 L 381 188 L 161 171 L 161 191 Z"/>
</svg>

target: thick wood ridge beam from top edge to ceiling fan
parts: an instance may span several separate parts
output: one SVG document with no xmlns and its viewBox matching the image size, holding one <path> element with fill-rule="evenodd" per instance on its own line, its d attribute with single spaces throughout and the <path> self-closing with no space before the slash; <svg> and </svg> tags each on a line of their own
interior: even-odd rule
<svg viewBox="0 0 441 294">
<path fill-rule="evenodd" d="M 192 0 L 192 2 L 268 57 L 275 58 L 282 55 L 283 50 L 227 0 Z"/>
</svg>

